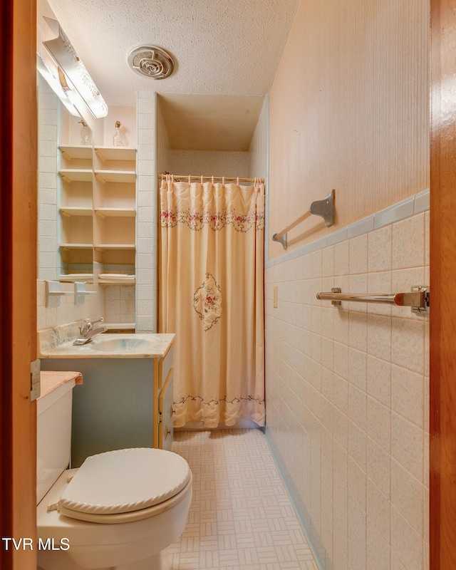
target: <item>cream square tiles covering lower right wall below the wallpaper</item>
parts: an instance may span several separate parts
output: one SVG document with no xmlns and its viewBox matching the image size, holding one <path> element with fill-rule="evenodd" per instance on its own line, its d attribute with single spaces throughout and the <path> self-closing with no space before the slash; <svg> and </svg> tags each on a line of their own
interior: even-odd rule
<svg viewBox="0 0 456 570">
<path fill-rule="evenodd" d="M 418 214 L 411 197 L 375 214 L 377 225 L 365 234 L 357 234 L 358 224 L 341 232 L 342 241 L 266 265 L 269 296 L 279 285 L 293 297 L 266 319 L 267 434 L 296 504 L 308 504 L 310 518 L 302 519 L 309 534 L 334 570 L 428 570 L 428 317 L 408 307 L 343 301 L 336 308 L 315 299 L 318 286 L 390 294 L 425 284 L 426 199 L 417 198 Z M 347 234 L 356 237 L 343 241 Z M 293 341 L 290 351 L 299 329 L 303 344 Z M 310 439 L 310 458 L 309 451 L 296 458 L 305 446 L 291 450 L 291 433 L 295 441 Z M 311 473 L 298 472 L 309 460 Z M 323 498 L 331 480 L 332 543 Z"/>
</svg>

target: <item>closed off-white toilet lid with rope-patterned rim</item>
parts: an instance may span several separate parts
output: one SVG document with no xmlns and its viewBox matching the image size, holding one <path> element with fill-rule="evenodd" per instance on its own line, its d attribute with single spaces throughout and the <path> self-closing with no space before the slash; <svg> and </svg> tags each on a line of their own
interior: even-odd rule
<svg viewBox="0 0 456 570">
<path fill-rule="evenodd" d="M 83 462 L 58 502 L 91 514 L 138 511 L 174 497 L 191 479 L 183 457 L 166 450 L 137 447 L 92 455 Z"/>
</svg>

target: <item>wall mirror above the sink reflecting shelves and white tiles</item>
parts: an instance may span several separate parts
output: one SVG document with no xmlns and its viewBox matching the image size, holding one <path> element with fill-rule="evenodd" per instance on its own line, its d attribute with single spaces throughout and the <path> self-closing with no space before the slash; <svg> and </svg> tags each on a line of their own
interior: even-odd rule
<svg viewBox="0 0 456 570">
<path fill-rule="evenodd" d="M 93 281 L 92 132 L 37 73 L 38 280 Z"/>
</svg>

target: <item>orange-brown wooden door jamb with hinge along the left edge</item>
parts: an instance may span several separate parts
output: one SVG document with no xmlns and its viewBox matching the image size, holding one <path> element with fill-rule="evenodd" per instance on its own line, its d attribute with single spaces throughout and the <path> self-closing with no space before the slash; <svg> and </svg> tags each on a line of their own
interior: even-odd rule
<svg viewBox="0 0 456 570">
<path fill-rule="evenodd" d="M 4 569 L 36 569 L 36 1 L 3 0 L 0 33 L 0 525 Z M 6 544 L 9 549 L 6 550 Z M 24 543 L 21 545 L 24 546 Z M 33 550 L 31 549 L 33 547 Z"/>
</svg>

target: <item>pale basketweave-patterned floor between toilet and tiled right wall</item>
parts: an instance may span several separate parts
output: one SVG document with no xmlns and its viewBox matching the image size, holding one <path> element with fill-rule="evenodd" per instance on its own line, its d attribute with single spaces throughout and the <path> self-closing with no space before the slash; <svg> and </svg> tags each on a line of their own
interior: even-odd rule
<svg viewBox="0 0 456 570">
<path fill-rule="evenodd" d="M 193 474 L 172 570 L 317 570 L 260 430 L 177 431 Z"/>
</svg>

